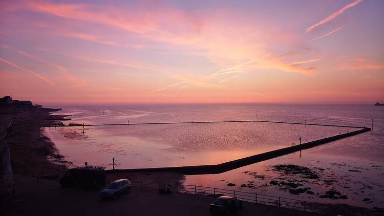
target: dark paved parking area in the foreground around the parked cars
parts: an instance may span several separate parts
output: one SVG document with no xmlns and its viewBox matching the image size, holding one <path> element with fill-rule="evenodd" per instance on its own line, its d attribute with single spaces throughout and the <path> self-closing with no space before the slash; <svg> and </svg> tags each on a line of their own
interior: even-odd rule
<svg viewBox="0 0 384 216">
<path fill-rule="evenodd" d="M 2 215 L 210 215 L 213 197 L 133 188 L 117 200 L 101 200 L 98 191 L 61 188 L 57 181 L 15 175 L 16 193 L 3 199 Z M 4 213 L 4 214 L 3 214 Z M 267 205 L 244 203 L 237 215 L 315 215 Z"/>
</svg>

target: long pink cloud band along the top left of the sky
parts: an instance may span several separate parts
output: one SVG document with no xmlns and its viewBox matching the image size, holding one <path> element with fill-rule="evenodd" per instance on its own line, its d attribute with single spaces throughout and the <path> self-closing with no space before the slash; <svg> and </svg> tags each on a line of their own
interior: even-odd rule
<svg viewBox="0 0 384 216">
<path fill-rule="evenodd" d="M 199 28 L 199 22 L 188 18 L 186 14 L 177 10 L 164 8 L 160 4 L 157 7 L 147 7 L 145 4 L 139 5 L 141 6 L 140 11 L 132 10 L 133 5 L 130 5 L 129 9 L 124 10 L 105 4 L 23 1 L 22 4 L 13 8 L 14 10 L 29 9 L 68 19 L 113 26 L 136 33 L 155 31 L 161 22 L 180 23 L 181 21 L 190 21 L 191 23 L 196 23 L 194 24 L 194 29 Z"/>
</svg>

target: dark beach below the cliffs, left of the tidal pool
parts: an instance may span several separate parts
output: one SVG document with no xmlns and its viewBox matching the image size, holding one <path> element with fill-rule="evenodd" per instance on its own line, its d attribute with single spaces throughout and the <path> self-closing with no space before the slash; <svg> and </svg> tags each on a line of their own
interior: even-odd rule
<svg viewBox="0 0 384 216">
<path fill-rule="evenodd" d="M 66 116 L 55 116 L 51 113 L 58 109 L 40 109 L 15 114 L 8 127 L 4 140 L 8 143 L 13 172 L 31 176 L 43 176 L 61 173 L 66 167 L 51 163 L 47 157 L 65 163 L 57 154 L 55 144 L 42 133 L 44 124 L 58 124 L 58 120 Z"/>
</svg>

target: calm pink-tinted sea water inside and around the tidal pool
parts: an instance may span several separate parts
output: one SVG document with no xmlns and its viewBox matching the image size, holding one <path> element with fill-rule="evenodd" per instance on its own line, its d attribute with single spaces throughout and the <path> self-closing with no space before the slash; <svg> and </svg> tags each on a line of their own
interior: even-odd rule
<svg viewBox="0 0 384 216">
<path fill-rule="evenodd" d="M 295 195 L 314 199 L 334 188 L 349 199 L 337 201 L 360 206 L 383 206 L 381 169 L 384 165 L 384 107 L 373 105 L 126 105 L 126 106 L 68 106 L 59 114 L 72 114 L 72 123 L 142 123 L 221 120 L 269 120 L 318 124 L 369 126 L 373 131 L 338 140 L 287 156 L 252 164 L 218 175 L 187 176 L 185 183 L 293 196 L 286 190 L 273 187 L 269 181 L 279 174 L 271 166 L 281 163 L 330 170 L 326 178 L 350 180 L 330 185 L 312 182 L 315 195 Z M 68 124 L 70 121 L 64 121 Z M 111 168 L 112 158 L 117 168 L 141 168 L 181 165 L 217 164 L 268 150 L 353 131 L 353 128 L 290 125 L 262 122 L 165 124 L 46 128 L 60 154 L 74 165 L 84 162 Z M 334 165 L 336 164 L 336 165 Z M 351 167 L 357 167 L 358 171 Z M 264 180 L 245 171 L 265 175 Z M 327 178 L 328 178 L 327 177 Z M 253 181 L 256 186 L 240 187 Z M 336 181 L 336 180 L 335 180 Z M 327 181 L 326 181 L 327 182 Z M 351 183 L 352 182 L 352 183 Z M 353 183 L 354 182 L 354 183 Z M 311 184 L 309 182 L 306 185 Z M 361 184 L 368 185 L 361 189 Z M 316 186 L 317 185 L 317 186 Z M 322 185 L 322 186 L 318 186 Z M 368 188 L 368 189 L 367 189 Z M 370 189 L 372 188 L 372 189 Z M 364 191 L 364 192 L 361 192 Z M 316 194 L 317 193 L 317 194 Z M 369 195 L 370 194 L 370 195 Z M 369 197 L 369 201 L 362 201 Z M 381 197 L 381 198 L 380 198 Z M 353 198 L 353 199 L 352 199 Z"/>
</svg>

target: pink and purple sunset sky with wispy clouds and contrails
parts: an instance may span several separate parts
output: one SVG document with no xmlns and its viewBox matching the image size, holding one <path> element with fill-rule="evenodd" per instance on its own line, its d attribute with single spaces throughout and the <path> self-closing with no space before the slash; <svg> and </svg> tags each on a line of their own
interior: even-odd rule
<svg viewBox="0 0 384 216">
<path fill-rule="evenodd" d="M 384 1 L 1 1 L 0 96 L 384 102 Z"/>
</svg>

